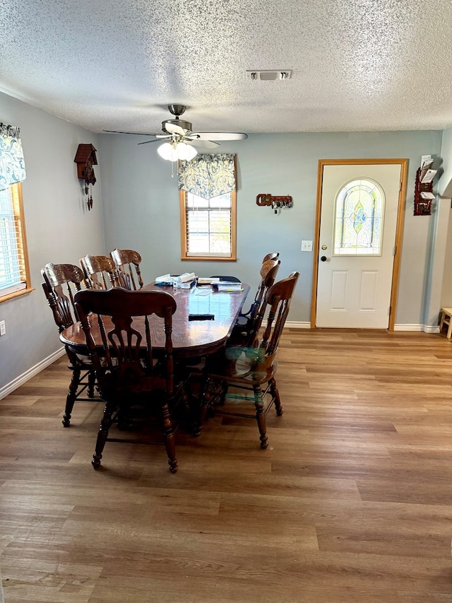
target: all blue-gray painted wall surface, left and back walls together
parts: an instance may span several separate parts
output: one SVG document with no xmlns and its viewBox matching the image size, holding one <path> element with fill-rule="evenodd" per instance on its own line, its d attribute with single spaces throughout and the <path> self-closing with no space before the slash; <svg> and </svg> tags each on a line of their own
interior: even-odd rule
<svg viewBox="0 0 452 603">
<path fill-rule="evenodd" d="M 171 165 L 156 144 L 138 146 L 138 136 L 93 134 L 20 100 L 0 93 L 0 121 L 20 127 L 27 180 L 23 182 L 25 223 L 32 273 L 30 295 L 0 304 L 6 335 L 0 338 L 0 397 L 60 348 L 57 329 L 40 282 L 47 262 L 77 263 L 86 253 L 133 248 L 143 255 L 143 277 L 168 271 L 237 274 L 254 288 L 264 254 L 278 250 L 279 276 L 301 273 L 290 322 L 309 322 L 312 259 L 302 240 L 314 238 L 319 159 L 408 158 L 408 193 L 396 324 L 426 320 L 429 270 L 436 236 L 435 216 L 413 216 L 415 172 L 420 157 L 438 156 L 441 131 L 338 134 L 251 134 L 222 144 L 237 153 L 237 262 L 181 262 L 179 194 Z M 92 143 L 94 208 L 88 212 L 73 158 L 78 144 Z M 102 184 L 102 186 L 101 186 Z M 256 205 L 256 195 L 292 195 L 292 209 L 279 215 Z"/>
</svg>

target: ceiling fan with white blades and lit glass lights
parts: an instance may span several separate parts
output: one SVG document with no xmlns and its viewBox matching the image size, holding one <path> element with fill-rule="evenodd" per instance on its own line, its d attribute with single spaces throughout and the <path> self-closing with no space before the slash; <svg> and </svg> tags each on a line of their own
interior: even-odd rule
<svg viewBox="0 0 452 603">
<path fill-rule="evenodd" d="M 186 160 L 189 161 L 196 156 L 196 148 L 216 148 L 220 146 L 218 140 L 244 140 L 248 134 L 243 132 L 196 132 L 193 131 L 190 122 L 179 119 L 184 114 L 185 105 L 168 105 L 168 110 L 175 119 L 165 119 L 162 122 L 163 134 L 152 134 L 150 132 L 123 132 L 117 130 L 104 130 L 105 132 L 114 132 L 115 134 L 138 134 L 138 136 L 155 136 L 153 140 L 139 142 L 138 144 L 148 144 L 149 142 L 167 141 L 159 148 L 157 153 L 169 161 Z"/>
</svg>

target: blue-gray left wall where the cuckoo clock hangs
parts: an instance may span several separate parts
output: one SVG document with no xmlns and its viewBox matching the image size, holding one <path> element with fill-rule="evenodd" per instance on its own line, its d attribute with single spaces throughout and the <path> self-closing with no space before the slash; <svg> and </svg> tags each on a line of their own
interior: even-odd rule
<svg viewBox="0 0 452 603">
<path fill-rule="evenodd" d="M 0 93 L 0 122 L 20 127 L 27 179 L 23 203 L 32 286 L 28 295 L 0 304 L 6 335 L 0 338 L 2 388 L 61 348 L 40 270 L 47 262 L 78 263 L 86 253 L 103 253 L 100 182 L 88 212 L 73 163 L 78 144 L 93 143 L 92 132 Z M 95 172 L 100 176 L 100 166 Z"/>
</svg>

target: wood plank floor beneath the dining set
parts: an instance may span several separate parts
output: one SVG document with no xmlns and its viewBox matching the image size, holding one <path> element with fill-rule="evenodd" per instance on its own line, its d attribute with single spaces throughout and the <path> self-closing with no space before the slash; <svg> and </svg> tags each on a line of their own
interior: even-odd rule
<svg viewBox="0 0 452 603">
<path fill-rule="evenodd" d="M 282 417 L 109 443 L 64 359 L 0 401 L 6 603 L 450 603 L 452 344 L 286 329 Z M 160 438 L 160 435 L 158 436 Z M 157 438 L 157 439 L 158 439 Z"/>
</svg>

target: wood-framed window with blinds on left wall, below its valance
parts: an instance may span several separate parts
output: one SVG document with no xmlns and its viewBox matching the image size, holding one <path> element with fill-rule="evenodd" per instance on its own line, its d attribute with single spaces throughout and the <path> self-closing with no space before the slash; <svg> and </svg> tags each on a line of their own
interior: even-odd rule
<svg viewBox="0 0 452 603">
<path fill-rule="evenodd" d="M 0 190 L 0 302 L 31 291 L 20 182 Z"/>
</svg>

